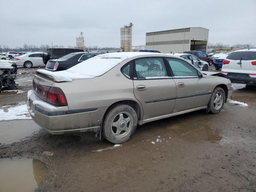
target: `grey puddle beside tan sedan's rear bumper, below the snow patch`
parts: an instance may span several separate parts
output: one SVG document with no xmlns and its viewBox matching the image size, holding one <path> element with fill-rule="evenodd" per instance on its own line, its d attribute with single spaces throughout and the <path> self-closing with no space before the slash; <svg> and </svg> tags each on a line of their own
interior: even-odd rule
<svg viewBox="0 0 256 192">
<path fill-rule="evenodd" d="M 0 143 L 10 144 L 18 142 L 39 129 L 40 126 L 33 120 L 0 121 Z"/>
</svg>

